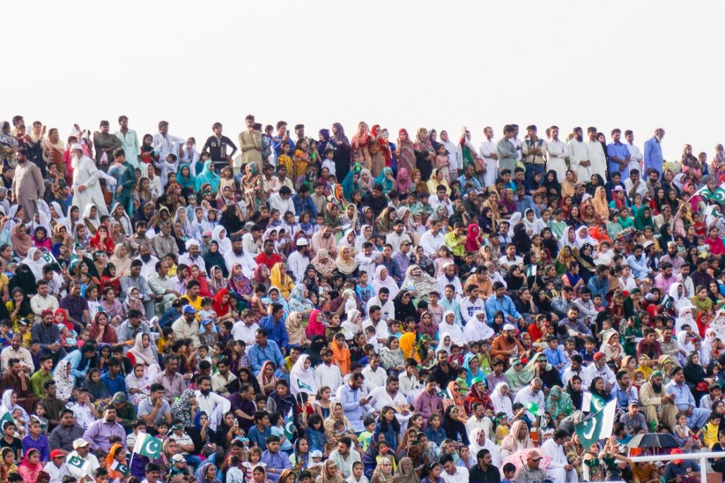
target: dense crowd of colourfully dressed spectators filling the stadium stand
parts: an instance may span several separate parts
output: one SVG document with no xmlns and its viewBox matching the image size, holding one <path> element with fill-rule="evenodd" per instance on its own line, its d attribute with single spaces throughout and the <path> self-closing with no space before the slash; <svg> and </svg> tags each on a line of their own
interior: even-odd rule
<svg viewBox="0 0 725 483">
<path fill-rule="evenodd" d="M 626 445 L 725 450 L 723 146 L 117 122 L 1 125 L 0 483 L 705 483 Z"/>
</svg>

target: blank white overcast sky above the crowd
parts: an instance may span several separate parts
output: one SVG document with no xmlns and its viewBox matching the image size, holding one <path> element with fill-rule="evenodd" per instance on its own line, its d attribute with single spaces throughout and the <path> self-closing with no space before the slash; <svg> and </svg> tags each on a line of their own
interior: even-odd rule
<svg viewBox="0 0 725 483">
<path fill-rule="evenodd" d="M 72 6 L 72 7 L 71 7 Z M 3 6 L 0 119 L 22 114 L 96 130 L 119 114 L 138 132 L 197 143 L 215 121 L 236 143 L 244 116 L 418 127 L 476 146 L 484 126 L 664 127 L 725 142 L 722 1 L 12 1 Z M 8 21 L 12 19 L 12 21 Z M 717 60 L 721 59 L 721 60 Z"/>
</svg>

